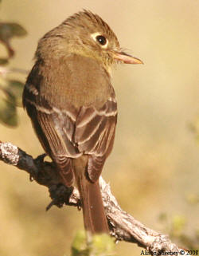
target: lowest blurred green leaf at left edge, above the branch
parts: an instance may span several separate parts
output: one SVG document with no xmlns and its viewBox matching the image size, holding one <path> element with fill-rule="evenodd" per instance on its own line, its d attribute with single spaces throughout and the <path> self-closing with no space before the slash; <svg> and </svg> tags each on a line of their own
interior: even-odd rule
<svg viewBox="0 0 199 256">
<path fill-rule="evenodd" d="M 0 121 L 9 126 L 18 125 L 17 109 L 14 104 L 7 100 L 0 99 Z"/>
</svg>

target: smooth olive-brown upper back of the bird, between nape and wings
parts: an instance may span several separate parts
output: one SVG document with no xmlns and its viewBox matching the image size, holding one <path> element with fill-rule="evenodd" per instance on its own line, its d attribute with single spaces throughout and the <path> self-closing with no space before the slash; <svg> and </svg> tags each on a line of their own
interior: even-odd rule
<svg viewBox="0 0 199 256">
<path fill-rule="evenodd" d="M 43 65 L 41 95 L 64 108 L 101 108 L 113 93 L 111 78 L 98 61 L 75 54 Z"/>
</svg>

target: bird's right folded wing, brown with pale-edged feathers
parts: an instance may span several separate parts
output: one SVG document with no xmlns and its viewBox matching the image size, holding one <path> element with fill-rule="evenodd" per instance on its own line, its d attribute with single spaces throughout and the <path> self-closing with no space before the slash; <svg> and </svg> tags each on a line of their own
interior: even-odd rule
<svg viewBox="0 0 199 256">
<path fill-rule="evenodd" d="M 82 107 L 77 116 L 74 141 L 79 151 L 89 156 L 88 177 L 93 182 L 100 177 L 103 163 L 111 152 L 116 122 L 115 95 L 98 110 Z"/>
</svg>

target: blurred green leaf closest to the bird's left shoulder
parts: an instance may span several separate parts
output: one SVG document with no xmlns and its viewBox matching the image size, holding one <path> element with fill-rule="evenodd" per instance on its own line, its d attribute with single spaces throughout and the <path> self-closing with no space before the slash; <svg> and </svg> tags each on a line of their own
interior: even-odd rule
<svg viewBox="0 0 199 256">
<path fill-rule="evenodd" d="M 24 89 L 24 83 L 17 80 L 9 80 L 6 86 L 7 100 L 18 107 L 21 107 L 22 93 Z"/>
</svg>

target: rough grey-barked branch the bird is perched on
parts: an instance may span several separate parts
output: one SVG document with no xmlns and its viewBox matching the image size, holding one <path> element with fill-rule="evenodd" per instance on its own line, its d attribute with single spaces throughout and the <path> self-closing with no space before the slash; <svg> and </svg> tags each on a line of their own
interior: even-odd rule
<svg viewBox="0 0 199 256">
<path fill-rule="evenodd" d="M 80 195 L 76 187 L 72 189 L 64 187 L 56 167 L 53 163 L 45 162 L 44 157 L 45 155 L 38 156 L 34 160 L 32 156 L 13 144 L 0 142 L 0 160 L 28 172 L 31 180 L 34 179 L 37 183 L 49 188 L 53 201 L 46 208 L 47 210 L 53 205 L 62 207 L 64 204 L 80 208 Z M 149 250 L 150 254 L 158 255 L 161 252 L 185 254 L 185 250 L 171 242 L 167 235 L 151 230 L 123 211 L 111 194 L 110 186 L 102 177 L 100 177 L 100 187 L 110 233 L 116 240 L 136 243 Z"/>
</svg>

